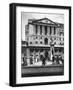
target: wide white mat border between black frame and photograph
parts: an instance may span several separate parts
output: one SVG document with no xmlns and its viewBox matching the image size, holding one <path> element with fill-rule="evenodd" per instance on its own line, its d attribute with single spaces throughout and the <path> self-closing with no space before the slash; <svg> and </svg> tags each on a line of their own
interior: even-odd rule
<svg viewBox="0 0 73 90">
<path fill-rule="evenodd" d="M 21 77 L 21 12 L 64 14 L 64 76 Z M 16 7 L 16 84 L 69 81 L 69 10 Z"/>
</svg>

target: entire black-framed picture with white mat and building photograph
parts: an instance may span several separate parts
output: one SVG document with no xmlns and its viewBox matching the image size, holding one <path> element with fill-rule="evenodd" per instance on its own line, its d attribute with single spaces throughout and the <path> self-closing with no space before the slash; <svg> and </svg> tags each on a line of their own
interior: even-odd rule
<svg viewBox="0 0 73 90">
<path fill-rule="evenodd" d="M 71 83 L 71 7 L 10 4 L 10 86 Z"/>
</svg>

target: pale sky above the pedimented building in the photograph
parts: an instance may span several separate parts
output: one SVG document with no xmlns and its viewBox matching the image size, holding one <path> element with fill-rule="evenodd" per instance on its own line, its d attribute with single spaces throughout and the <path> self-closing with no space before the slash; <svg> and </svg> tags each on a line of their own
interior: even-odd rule
<svg viewBox="0 0 73 90">
<path fill-rule="evenodd" d="M 64 15 L 58 13 L 30 13 L 30 12 L 22 12 L 21 13 L 21 22 L 22 22 L 22 40 L 25 40 L 25 25 L 28 24 L 28 19 L 42 19 L 48 18 L 54 22 L 63 23 L 64 24 Z"/>
</svg>

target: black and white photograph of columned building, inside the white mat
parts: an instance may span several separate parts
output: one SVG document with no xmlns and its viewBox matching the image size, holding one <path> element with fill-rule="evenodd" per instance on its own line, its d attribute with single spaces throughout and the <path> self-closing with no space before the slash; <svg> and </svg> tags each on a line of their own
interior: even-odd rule
<svg viewBox="0 0 73 90">
<path fill-rule="evenodd" d="M 22 12 L 21 25 L 22 77 L 64 75 L 64 15 Z"/>
</svg>

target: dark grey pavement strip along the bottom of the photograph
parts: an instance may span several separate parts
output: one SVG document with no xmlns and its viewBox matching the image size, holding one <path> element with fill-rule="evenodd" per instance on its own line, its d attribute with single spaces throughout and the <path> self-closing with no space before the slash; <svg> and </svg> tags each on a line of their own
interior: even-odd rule
<svg viewBox="0 0 73 90">
<path fill-rule="evenodd" d="M 22 66 L 22 77 L 64 75 L 64 65 Z"/>
</svg>

